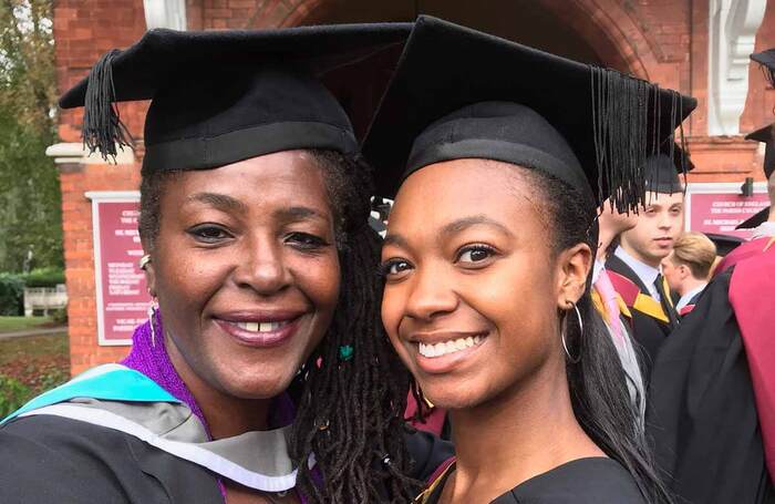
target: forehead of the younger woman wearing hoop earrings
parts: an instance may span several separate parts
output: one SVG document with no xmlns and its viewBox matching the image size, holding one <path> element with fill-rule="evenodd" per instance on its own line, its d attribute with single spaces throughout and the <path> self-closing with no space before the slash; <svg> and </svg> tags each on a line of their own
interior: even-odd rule
<svg viewBox="0 0 775 504">
<path fill-rule="evenodd" d="M 529 225 L 538 220 L 542 207 L 524 169 L 486 160 L 455 160 L 418 169 L 401 186 L 389 229 L 416 236 L 474 215 L 510 228 Z"/>
</svg>

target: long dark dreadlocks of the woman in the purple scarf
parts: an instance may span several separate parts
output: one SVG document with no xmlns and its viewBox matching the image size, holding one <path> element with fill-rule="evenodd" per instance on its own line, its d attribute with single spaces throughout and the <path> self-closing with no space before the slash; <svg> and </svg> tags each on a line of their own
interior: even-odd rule
<svg viewBox="0 0 775 504">
<path fill-rule="evenodd" d="M 380 320 L 381 240 L 368 225 L 371 171 L 360 156 L 308 153 L 323 172 L 334 214 L 341 287 L 331 326 L 292 385 L 299 389 L 289 445 L 297 490 L 313 503 L 411 502 L 421 485 L 406 476 L 409 372 Z M 143 173 L 138 224 L 146 251 L 158 234 L 164 187 L 177 176 Z M 340 354 L 345 347 L 354 350 L 349 359 Z"/>
</svg>

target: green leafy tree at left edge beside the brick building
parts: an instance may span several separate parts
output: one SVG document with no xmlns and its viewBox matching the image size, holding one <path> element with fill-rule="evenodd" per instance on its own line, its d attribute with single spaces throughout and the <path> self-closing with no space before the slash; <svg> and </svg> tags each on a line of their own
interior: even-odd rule
<svg viewBox="0 0 775 504">
<path fill-rule="evenodd" d="M 0 0 L 0 270 L 62 266 L 52 0 Z"/>
</svg>

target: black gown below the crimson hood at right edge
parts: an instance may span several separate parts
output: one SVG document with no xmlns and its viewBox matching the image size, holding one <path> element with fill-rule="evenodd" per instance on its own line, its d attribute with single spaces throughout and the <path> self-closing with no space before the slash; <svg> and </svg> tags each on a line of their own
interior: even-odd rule
<svg viewBox="0 0 775 504">
<path fill-rule="evenodd" d="M 745 348 L 717 276 L 665 341 L 651 374 L 647 434 L 670 488 L 692 504 L 775 503 Z"/>
</svg>

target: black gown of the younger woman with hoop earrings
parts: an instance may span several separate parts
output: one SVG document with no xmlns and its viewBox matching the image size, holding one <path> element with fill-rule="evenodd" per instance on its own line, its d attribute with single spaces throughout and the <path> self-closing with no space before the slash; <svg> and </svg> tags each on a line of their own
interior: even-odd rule
<svg viewBox="0 0 775 504">
<path fill-rule="evenodd" d="M 417 497 L 436 504 L 454 464 Z M 476 501 L 477 503 L 483 501 Z M 492 504 L 647 504 L 634 480 L 618 462 L 606 457 L 579 459 L 520 483 Z"/>
</svg>

